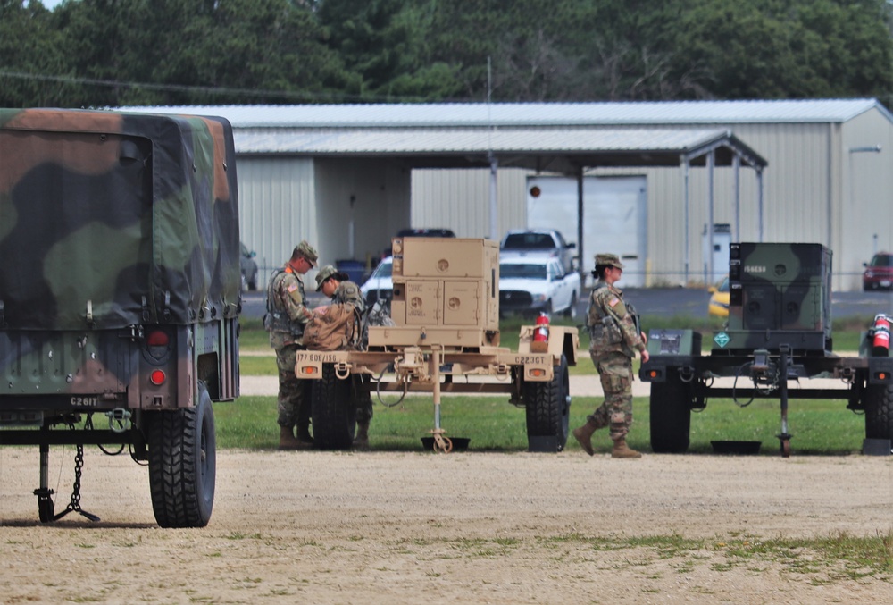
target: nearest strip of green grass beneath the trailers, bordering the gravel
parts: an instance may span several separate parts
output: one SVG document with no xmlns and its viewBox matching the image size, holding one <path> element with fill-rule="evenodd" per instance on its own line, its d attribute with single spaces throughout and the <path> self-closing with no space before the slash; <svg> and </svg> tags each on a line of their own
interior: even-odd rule
<svg viewBox="0 0 893 605">
<path fill-rule="evenodd" d="M 398 395 L 382 399 L 395 403 Z M 373 394 L 375 416 L 370 443 L 373 450 L 420 450 L 421 437 L 434 427 L 434 404 L 430 396 L 406 397 L 388 408 Z M 586 416 L 601 405 L 600 398 L 576 397 L 572 401 L 571 426 L 586 422 Z M 242 397 L 235 402 L 214 404 L 217 441 L 221 448 L 271 450 L 278 443 L 276 398 Z M 629 441 L 633 448 L 650 450 L 648 399 L 633 400 L 634 421 Z M 789 403 L 791 448 L 797 455 L 843 455 L 860 450 L 864 418 L 846 409 L 843 401 L 797 401 Z M 524 410 L 508 403 L 508 397 L 445 395 L 440 405 L 440 425 L 447 436 L 471 439 L 471 450 L 523 451 L 527 449 Z M 777 456 L 780 444 L 779 404 L 773 399 L 757 400 L 739 408 L 728 399 L 711 401 L 691 418 L 690 452 L 709 453 L 710 441 L 762 441 L 761 455 Z M 611 445 L 605 432 L 595 443 L 607 452 Z M 568 450 L 580 450 L 573 439 Z"/>
</svg>

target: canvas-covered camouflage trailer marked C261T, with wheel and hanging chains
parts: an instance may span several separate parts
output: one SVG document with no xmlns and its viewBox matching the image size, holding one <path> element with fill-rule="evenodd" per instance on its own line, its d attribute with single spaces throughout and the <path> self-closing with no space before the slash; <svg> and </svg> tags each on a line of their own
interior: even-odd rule
<svg viewBox="0 0 893 605">
<path fill-rule="evenodd" d="M 229 122 L 0 110 L 0 444 L 39 446 L 38 514 L 84 446 L 147 462 L 154 517 L 208 523 L 212 401 L 238 397 Z M 54 510 L 52 445 L 74 445 Z"/>
</svg>

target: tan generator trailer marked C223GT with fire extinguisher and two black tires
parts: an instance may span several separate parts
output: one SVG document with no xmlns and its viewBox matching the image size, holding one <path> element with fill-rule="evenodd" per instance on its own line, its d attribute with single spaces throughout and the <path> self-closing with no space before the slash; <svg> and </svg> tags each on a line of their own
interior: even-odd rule
<svg viewBox="0 0 893 605">
<path fill-rule="evenodd" d="M 296 374 L 313 381 L 313 442 L 348 449 L 354 441 L 352 388 L 429 392 L 434 450 L 453 441 L 440 425 L 441 393 L 508 393 L 526 410 L 530 451 L 561 451 L 571 408 L 568 366 L 577 328 L 522 326 L 519 350 L 499 347 L 499 248 L 487 239 L 395 238 L 391 318 L 370 325 L 363 351 L 298 351 Z M 543 326 L 540 326 L 543 327 Z M 371 380 L 352 381 L 352 374 Z M 362 387 L 359 386 L 362 383 Z"/>
</svg>

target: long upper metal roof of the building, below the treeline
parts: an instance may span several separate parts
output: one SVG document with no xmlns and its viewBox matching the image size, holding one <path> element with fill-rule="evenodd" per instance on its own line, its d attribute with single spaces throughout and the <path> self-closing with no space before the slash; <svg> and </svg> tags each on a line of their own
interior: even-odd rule
<svg viewBox="0 0 893 605">
<path fill-rule="evenodd" d="M 612 103 L 435 103 L 392 105 L 180 105 L 125 111 L 221 115 L 235 128 L 391 128 L 461 126 L 666 126 L 847 122 L 878 109 L 873 98 Z"/>
</svg>

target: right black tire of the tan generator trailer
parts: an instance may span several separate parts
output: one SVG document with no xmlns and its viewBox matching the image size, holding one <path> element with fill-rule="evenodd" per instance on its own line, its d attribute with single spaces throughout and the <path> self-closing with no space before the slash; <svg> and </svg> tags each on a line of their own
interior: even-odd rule
<svg viewBox="0 0 893 605">
<path fill-rule="evenodd" d="M 567 358 L 555 367 L 550 382 L 529 382 L 522 385 L 527 411 L 527 437 L 555 437 L 557 450 L 564 450 L 571 420 L 571 381 Z"/>
</svg>

